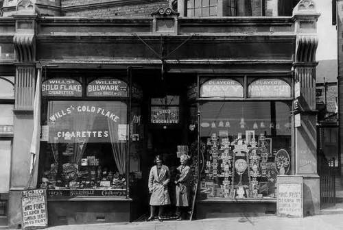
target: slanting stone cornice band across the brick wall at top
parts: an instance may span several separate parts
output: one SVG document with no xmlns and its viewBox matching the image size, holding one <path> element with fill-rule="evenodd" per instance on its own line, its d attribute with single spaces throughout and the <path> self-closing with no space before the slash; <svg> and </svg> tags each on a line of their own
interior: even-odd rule
<svg viewBox="0 0 343 230">
<path fill-rule="evenodd" d="M 74 12 L 74 11 L 82 11 L 82 10 L 91 10 L 96 8 L 109 8 L 119 5 L 142 5 L 147 3 L 155 3 L 160 2 L 161 0 L 114 0 L 102 3 L 89 3 L 89 4 L 82 4 L 82 5 L 69 5 L 69 6 L 62 6 L 62 12 Z"/>
</svg>

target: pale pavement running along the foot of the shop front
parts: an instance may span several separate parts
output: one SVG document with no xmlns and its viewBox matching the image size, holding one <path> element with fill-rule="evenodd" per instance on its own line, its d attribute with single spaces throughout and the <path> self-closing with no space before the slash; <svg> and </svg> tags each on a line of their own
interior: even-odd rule
<svg viewBox="0 0 343 230">
<path fill-rule="evenodd" d="M 320 215 L 305 218 L 279 216 L 244 216 L 205 220 L 165 220 L 163 222 L 125 222 L 94 225 L 65 225 L 49 230 L 335 230 L 343 229 L 343 203 L 322 209 Z"/>
</svg>

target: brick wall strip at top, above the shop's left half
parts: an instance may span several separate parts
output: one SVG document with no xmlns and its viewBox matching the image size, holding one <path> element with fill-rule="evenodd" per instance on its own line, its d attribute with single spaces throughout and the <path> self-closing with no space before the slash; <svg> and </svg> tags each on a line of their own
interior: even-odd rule
<svg viewBox="0 0 343 230">
<path fill-rule="evenodd" d="M 91 3 L 106 3 L 108 0 L 62 0 L 62 6 L 85 5 Z M 110 1 L 113 2 L 113 1 Z M 152 1 L 143 4 L 121 4 L 121 5 L 97 5 L 87 8 L 68 9 L 64 11 L 64 16 L 81 16 L 81 17 L 102 17 L 110 18 L 116 16 L 126 17 L 150 17 L 151 12 L 158 8 L 167 8 L 168 1 Z"/>
</svg>

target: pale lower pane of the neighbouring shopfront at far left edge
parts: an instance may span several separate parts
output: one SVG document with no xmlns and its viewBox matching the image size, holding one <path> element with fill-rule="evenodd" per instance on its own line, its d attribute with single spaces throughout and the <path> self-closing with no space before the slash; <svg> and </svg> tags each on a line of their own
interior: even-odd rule
<svg viewBox="0 0 343 230">
<path fill-rule="evenodd" d="M 11 141 L 0 140 L 0 192 L 10 190 Z"/>
</svg>

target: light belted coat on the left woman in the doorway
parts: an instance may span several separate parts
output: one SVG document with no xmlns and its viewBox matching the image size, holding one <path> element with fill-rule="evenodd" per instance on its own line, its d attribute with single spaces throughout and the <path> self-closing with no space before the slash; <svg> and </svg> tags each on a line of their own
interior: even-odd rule
<svg viewBox="0 0 343 230">
<path fill-rule="evenodd" d="M 152 193 L 150 196 L 150 205 L 169 205 L 168 186 L 163 186 L 163 183 L 169 183 L 170 172 L 169 168 L 162 165 L 160 174 L 157 173 L 157 166 L 152 166 L 149 175 L 149 191 Z"/>
</svg>

